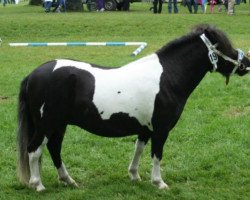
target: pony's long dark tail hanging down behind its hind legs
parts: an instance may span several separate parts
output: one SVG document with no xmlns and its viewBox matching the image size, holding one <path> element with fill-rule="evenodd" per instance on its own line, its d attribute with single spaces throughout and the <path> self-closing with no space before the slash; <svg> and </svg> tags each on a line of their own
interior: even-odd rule
<svg viewBox="0 0 250 200">
<path fill-rule="evenodd" d="M 29 183 L 30 169 L 28 157 L 28 143 L 32 135 L 32 120 L 29 113 L 26 88 L 28 77 L 26 77 L 20 87 L 19 107 L 18 107 L 18 132 L 17 132 L 17 151 L 18 151 L 18 176 L 23 184 Z"/>
</svg>

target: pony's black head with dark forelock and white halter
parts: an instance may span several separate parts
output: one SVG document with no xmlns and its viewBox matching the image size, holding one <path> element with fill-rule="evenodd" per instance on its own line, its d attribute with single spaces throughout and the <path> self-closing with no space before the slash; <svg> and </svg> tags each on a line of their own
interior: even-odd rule
<svg viewBox="0 0 250 200">
<path fill-rule="evenodd" d="M 203 24 L 194 27 L 204 46 L 207 47 L 211 71 L 217 71 L 229 81 L 233 74 L 243 76 L 250 71 L 250 60 L 240 49 L 234 49 L 224 32 L 214 26 Z"/>
</svg>

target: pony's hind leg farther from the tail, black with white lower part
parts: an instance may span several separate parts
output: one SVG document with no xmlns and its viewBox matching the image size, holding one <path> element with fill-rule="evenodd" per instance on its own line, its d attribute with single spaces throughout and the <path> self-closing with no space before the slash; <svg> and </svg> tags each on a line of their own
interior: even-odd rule
<svg viewBox="0 0 250 200">
<path fill-rule="evenodd" d="M 59 180 L 63 183 L 71 186 L 78 187 L 77 183 L 74 181 L 74 179 L 71 178 L 69 175 L 64 163 L 61 159 L 61 148 L 62 148 L 62 141 L 64 137 L 65 129 L 62 131 L 56 132 L 49 140 L 47 147 L 49 150 L 49 153 L 51 155 L 51 158 L 53 160 L 53 163 L 58 171 Z"/>
</svg>

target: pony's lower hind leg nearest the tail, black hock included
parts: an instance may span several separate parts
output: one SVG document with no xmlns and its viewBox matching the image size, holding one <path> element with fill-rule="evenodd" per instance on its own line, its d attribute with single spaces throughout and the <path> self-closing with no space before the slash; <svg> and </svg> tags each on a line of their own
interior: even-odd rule
<svg viewBox="0 0 250 200">
<path fill-rule="evenodd" d="M 40 177 L 39 160 L 42 155 L 44 146 L 48 139 L 39 134 L 34 135 L 28 147 L 29 166 L 30 166 L 30 180 L 29 185 L 35 188 L 38 192 L 45 190 Z"/>
</svg>

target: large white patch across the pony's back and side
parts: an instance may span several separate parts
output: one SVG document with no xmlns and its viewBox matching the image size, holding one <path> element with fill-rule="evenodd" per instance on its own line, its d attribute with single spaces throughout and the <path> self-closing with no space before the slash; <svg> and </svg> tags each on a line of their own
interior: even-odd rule
<svg viewBox="0 0 250 200">
<path fill-rule="evenodd" d="M 153 130 L 151 118 L 163 72 L 156 54 L 109 70 L 91 67 L 84 62 L 57 60 L 53 71 L 69 66 L 86 70 L 95 77 L 93 103 L 102 119 L 110 119 L 114 113 L 127 113 Z"/>
</svg>

